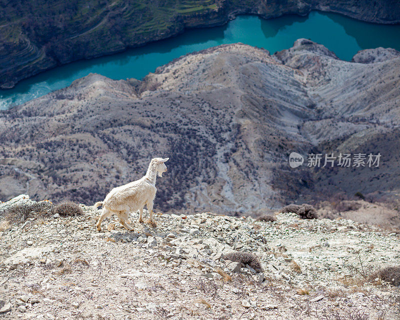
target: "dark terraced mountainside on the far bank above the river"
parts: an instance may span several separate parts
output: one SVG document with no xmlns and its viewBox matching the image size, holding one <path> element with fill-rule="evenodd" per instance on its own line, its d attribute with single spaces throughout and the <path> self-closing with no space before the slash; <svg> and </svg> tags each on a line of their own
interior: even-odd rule
<svg viewBox="0 0 400 320">
<path fill-rule="evenodd" d="M 396 0 L 0 1 L 0 88 L 79 59 L 120 52 L 181 33 L 222 25 L 239 14 L 263 18 L 340 13 L 382 24 L 400 22 Z"/>
</svg>

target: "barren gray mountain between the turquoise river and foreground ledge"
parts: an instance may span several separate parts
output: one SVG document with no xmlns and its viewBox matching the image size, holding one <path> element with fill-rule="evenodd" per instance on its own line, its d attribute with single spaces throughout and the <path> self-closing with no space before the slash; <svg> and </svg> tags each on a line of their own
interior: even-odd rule
<svg viewBox="0 0 400 320">
<path fill-rule="evenodd" d="M 399 191 L 400 57 L 341 61 L 299 39 L 183 56 L 143 81 L 90 74 L 0 114 L 0 198 L 102 200 L 169 157 L 154 208 L 235 214 Z M 290 168 L 288 155 L 381 154 L 378 168 Z"/>
</svg>

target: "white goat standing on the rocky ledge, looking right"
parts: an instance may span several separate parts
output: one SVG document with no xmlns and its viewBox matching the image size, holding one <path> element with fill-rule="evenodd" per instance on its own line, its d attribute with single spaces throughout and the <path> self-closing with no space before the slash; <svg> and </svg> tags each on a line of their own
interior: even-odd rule
<svg viewBox="0 0 400 320">
<path fill-rule="evenodd" d="M 99 201 L 94 204 L 97 208 L 102 204 L 103 208 L 98 221 L 96 223 L 97 230 L 101 230 L 101 221 L 110 217 L 113 213 L 118 216 L 119 222 L 125 229 L 132 231 L 133 228 L 128 225 L 129 212 L 136 212 L 139 210 L 139 222 L 143 222 L 142 213 L 143 207 L 146 205 L 147 211 L 150 213 L 150 221 L 153 220 L 153 200 L 155 197 L 155 178 L 158 173 L 162 177 L 162 172 L 166 171 L 164 164 L 169 158 L 154 158 L 151 159 L 147 172 L 144 177 L 139 180 L 130 182 L 120 187 L 113 188 L 105 197 L 104 201 Z M 126 224 L 126 222 L 128 224 Z"/>
</svg>

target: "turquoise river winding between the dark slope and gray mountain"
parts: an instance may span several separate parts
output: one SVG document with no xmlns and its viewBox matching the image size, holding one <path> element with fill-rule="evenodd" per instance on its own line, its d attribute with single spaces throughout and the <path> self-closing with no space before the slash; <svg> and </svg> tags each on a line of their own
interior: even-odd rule
<svg viewBox="0 0 400 320">
<path fill-rule="evenodd" d="M 235 42 L 268 50 L 271 54 L 290 48 L 298 38 L 307 38 L 350 61 L 357 51 L 369 48 L 400 50 L 400 25 L 364 23 L 337 14 L 311 12 L 307 17 L 283 16 L 263 20 L 239 16 L 222 27 L 191 29 L 183 34 L 133 48 L 123 53 L 74 62 L 0 90 L 0 109 L 7 109 L 69 86 L 89 73 L 111 79 L 141 79 L 174 58 L 221 44 Z"/>
</svg>

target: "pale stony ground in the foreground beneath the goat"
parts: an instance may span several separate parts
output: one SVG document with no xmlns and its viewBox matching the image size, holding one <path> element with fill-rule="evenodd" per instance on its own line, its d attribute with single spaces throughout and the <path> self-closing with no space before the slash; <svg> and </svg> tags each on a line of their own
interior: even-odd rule
<svg viewBox="0 0 400 320">
<path fill-rule="evenodd" d="M 19 200 L 22 201 L 22 200 Z M 30 200 L 23 200 L 30 201 Z M 400 291 L 372 270 L 400 258 L 399 233 L 345 219 L 155 214 L 134 231 L 98 212 L 30 218 L 1 232 L 8 319 L 398 319 Z M 3 224 L 4 228 L 4 224 Z M 225 260 L 255 254 L 262 272 Z"/>
</svg>

